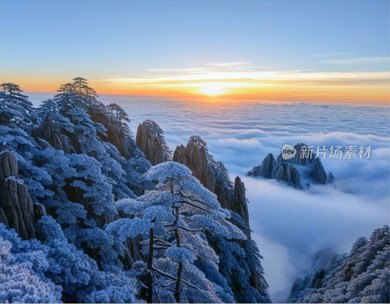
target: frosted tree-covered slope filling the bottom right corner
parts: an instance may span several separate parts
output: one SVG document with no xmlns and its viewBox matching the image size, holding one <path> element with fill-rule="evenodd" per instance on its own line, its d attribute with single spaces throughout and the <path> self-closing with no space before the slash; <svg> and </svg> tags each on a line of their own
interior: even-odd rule
<svg viewBox="0 0 390 304">
<path fill-rule="evenodd" d="M 389 226 L 361 237 L 326 268 L 298 279 L 288 303 L 389 303 Z"/>
</svg>

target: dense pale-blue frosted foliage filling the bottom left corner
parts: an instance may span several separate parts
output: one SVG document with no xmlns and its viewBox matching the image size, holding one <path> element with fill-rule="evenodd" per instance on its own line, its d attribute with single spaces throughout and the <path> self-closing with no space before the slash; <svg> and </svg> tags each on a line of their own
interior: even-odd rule
<svg viewBox="0 0 390 304">
<path fill-rule="evenodd" d="M 37 231 L 43 243 L 35 239 L 22 241 L 13 229 L 7 230 L 0 223 L 2 303 L 7 299 L 20 303 L 59 303 L 62 289 L 62 299 L 66 302 L 135 301 L 136 280 L 124 271 L 100 271 L 93 259 L 68 243 L 61 227 L 51 217 L 42 217 Z"/>
</svg>

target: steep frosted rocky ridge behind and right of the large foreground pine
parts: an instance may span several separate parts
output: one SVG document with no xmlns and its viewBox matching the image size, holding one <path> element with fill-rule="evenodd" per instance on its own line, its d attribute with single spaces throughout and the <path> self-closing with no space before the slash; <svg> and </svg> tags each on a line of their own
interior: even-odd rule
<svg viewBox="0 0 390 304">
<path fill-rule="evenodd" d="M 229 279 L 236 300 L 245 303 L 270 302 L 268 284 L 264 279 L 264 271 L 259 261 L 262 257 L 256 244 L 250 240 L 251 230 L 244 183 L 238 176 L 234 183 L 230 180 L 224 164 L 215 161 L 208 151 L 207 143 L 199 136 L 192 136 L 186 147 L 177 146 L 173 161 L 189 167 L 192 175 L 216 194 L 219 204 L 232 211 L 231 222 L 239 227 L 248 238 L 246 241 L 237 240 L 238 246 L 232 251 L 232 256 L 229 256 L 226 253 L 225 247 L 228 245 L 226 242 L 209 237 L 209 241 L 214 244 L 214 249 L 220 257 L 220 266 L 227 267 L 223 274 Z M 232 243 L 229 244 L 229 248 L 232 248 Z"/>
</svg>

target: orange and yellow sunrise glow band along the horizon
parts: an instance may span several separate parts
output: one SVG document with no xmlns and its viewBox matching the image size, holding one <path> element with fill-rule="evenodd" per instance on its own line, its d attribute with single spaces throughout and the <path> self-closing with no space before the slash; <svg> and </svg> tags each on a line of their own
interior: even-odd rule
<svg viewBox="0 0 390 304">
<path fill-rule="evenodd" d="M 172 97 L 201 101 L 307 101 L 389 105 L 390 73 L 204 73 L 169 77 L 96 79 L 98 94 Z M 71 78 L 11 77 L 25 92 L 56 93 Z"/>
</svg>

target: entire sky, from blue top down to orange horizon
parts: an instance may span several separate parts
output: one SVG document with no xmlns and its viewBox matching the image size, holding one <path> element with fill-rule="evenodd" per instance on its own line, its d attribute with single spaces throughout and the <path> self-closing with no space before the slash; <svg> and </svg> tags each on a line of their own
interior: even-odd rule
<svg viewBox="0 0 390 304">
<path fill-rule="evenodd" d="M 387 0 L 6 1 L 0 82 L 55 92 L 388 104 Z"/>
</svg>

